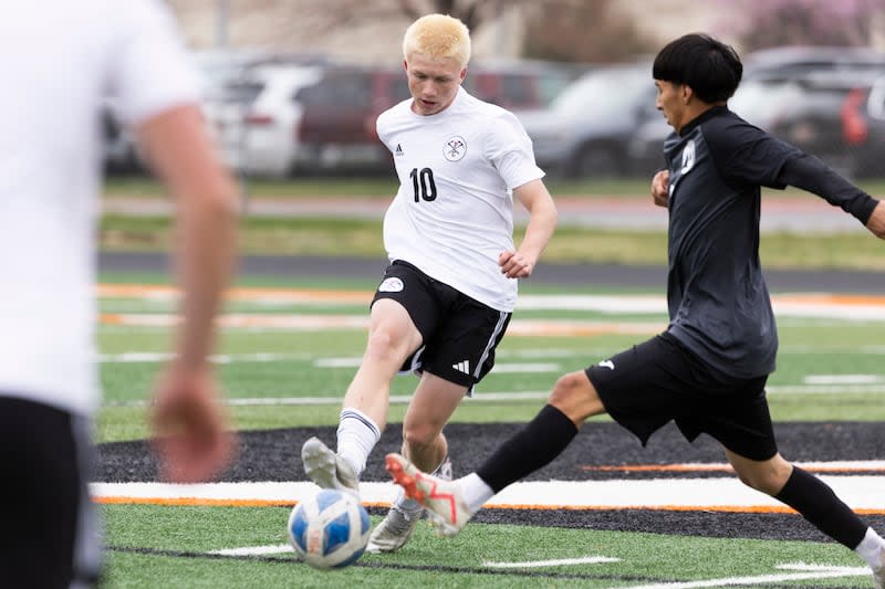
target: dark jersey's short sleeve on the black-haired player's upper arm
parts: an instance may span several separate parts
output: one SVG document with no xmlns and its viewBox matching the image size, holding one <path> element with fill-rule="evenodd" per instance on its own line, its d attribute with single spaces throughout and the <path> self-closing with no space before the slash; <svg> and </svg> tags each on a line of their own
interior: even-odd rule
<svg viewBox="0 0 885 589">
<path fill-rule="evenodd" d="M 799 148 L 739 119 L 705 129 L 704 138 L 719 172 L 737 183 L 783 189 L 781 169 L 802 155 Z"/>
</svg>

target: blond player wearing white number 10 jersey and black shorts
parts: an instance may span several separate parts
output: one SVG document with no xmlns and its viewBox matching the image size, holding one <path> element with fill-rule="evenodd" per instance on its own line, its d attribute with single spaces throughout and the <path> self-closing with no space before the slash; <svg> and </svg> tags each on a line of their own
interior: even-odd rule
<svg viewBox="0 0 885 589">
<path fill-rule="evenodd" d="M 357 490 L 385 428 L 397 371 L 420 377 L 403 422 L 403 453 L 428 472 L 450 469 L 442 428 L 491 369 L 517 298 L 556 225 L 556 208 L 512 113 L 469 95 L 461 82 L 470 35 L 457 19 L 429 14 L 403 41 L 412 98 L 383 113 L 378 137 L 399 190 L 384 219 L 391 265 L 375 293 L 363 361 L 344 397 L 337 452 L 302 448 L 320 486 Z M 513 243 L 513 200 L 530 213 Z M 400 548 L 423 514 L 396 499 L 368 550 Z"/>
</svg>

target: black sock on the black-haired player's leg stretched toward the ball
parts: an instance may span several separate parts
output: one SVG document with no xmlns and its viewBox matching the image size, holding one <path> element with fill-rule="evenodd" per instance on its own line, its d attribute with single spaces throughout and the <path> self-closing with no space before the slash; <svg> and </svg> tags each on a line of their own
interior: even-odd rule
<svg viewBox="0 0 885 589">
<path fill-rule="evenodd" d="M 533 420 L 501 444 L 477 474 L 498 493 L 555 459 L 576 434 L 577 428 L 572 420 L 552 404 L 546 404 Z"/>
</svg>

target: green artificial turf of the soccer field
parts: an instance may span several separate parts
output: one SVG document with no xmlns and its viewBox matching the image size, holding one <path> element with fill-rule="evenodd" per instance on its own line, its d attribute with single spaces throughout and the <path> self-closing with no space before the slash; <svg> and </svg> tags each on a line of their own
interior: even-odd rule
<svg viewBox="0 0 885 589">
<path fill-rule="evenodd" d="M 103 277 L 108 286 L 103 288 L 103 323 L 98 328 L 105 390 L 97 423 L 100 442 L 147 435 L 144 400 L 164 360 L 174 319 L 175 298 L 167 290 L 124 291 L 114 284 L 156 284 L 160 278 L 122 278 Z M 216 358 L 227 396 L 238 403 L 230 407 L 237 429 L 334 424 L 337 400 L 355 371 L 364 345 L 366 303 L 374 284 L 351 281 L 337 296 L 325 291 L 329 284 L 311 281 L 277 280 L 272 287 L 259 288 L 262 284 L 252 280 L 249 286 L 231 297 Z M 537 292 L 551 294 L 550 288 Z M 532 294 L 532 290 L 527 288 L 523 294 Z M 882 320 L 783 316 L 779 323 L 779 369 L 770 379 L 775 421 L 885 421 Z M 525 421 L 541 407 L 561 372 L 580 369 L 643 340 L 665 324 L 660 311 L 624 314 L 520 309 L 499 348 L 497 370 L 481 383 L 477 402 L 465 402 L 454 421 Z M 566 325 L 572 333 L 551 328 L 556 325 Z M 581 335 L 575 335 L 574 329 Z M 410 377 L 397 379 L 393 395 L 407 396 L 414 383 Z M 522 392 L 525 397 L 479 400 L 491 392 Z M 287 404 L 308 397 L 316 400 Z M 274 399 L 279 404 L 257 404 L 258 400 L 267 403 Z M 393 403 L 392 423 L 402 420 L 404 409 L 403 401 Z M 284 545 L 289 507 L 124 504 L 103 505 L 102 512 L 110 547 L 107 587 L 870 583 L 860 559 L 832 543 L 503 524 L 473 524 L 448 540 L 436 537 L 429 526 L 419 526 L 413 541 L 395 555 L 367 555 L 346 570 L 323 574 L 294 561 L 288 551 L 264 556 L 211 554 Z M 603 558 L 593 561 L 592 557 Z M 681 585 L 662 585 L 669 581 Z"/>
</svg>

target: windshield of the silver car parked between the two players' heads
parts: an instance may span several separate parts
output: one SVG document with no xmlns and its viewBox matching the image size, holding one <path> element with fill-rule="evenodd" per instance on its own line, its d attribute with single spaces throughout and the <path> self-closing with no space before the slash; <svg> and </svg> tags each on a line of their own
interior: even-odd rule
<svg viewBox="0 0 885 589">
<path fill-rule="evenodd" d="M 625 109 L 642 106 L 654 96 L 650 72 L 638 70 L 596 71 L 574 82 L 551 103 L 551 108 L 569 117 L 618 116 Z"/>
</svg>

